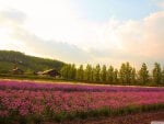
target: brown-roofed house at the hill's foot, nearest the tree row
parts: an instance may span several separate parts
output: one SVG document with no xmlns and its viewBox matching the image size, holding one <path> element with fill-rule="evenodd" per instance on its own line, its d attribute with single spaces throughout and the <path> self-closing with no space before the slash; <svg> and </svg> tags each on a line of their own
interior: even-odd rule
<svg viewBox="0 0 164 124">
<path fill-rule="evenodd" d="M 50 77 L 60 76 L 60 74 L 56 69 L 49 69 L 49 70 L 45 70 L 45 71 L 38 71 L 37 75 L 47 75 L 47 76 L 50 76 Z"/>
</svg>

